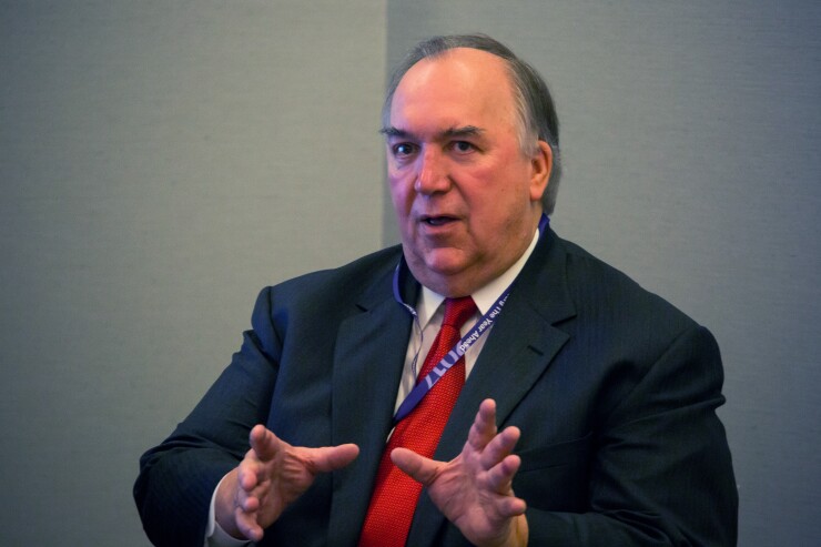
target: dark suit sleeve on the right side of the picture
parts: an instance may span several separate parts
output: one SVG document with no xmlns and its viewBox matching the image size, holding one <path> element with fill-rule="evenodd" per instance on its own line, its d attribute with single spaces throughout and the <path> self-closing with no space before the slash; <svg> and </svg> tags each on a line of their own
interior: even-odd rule
<svg viewBox="0 0 821 547">
<path fill-rule="evenodd" d="M 589 509 L 531 508 L 530 545 L 736 545 L 721 384 L 718 346 L 693 324 L 589 438 Z"/>
</svg>

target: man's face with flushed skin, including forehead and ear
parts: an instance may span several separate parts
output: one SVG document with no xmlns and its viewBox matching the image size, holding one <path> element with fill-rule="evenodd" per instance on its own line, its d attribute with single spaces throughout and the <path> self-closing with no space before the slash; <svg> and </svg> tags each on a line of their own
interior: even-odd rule
<svg viewBox="0 0 821 547">
<path fill-rule="evenodd" d="M 387 170 L 405 257 L 425 286 L 470 294 L 529 245 L 550 150 L 525 155 L 504 61 L 474 49 L 424 59 L 391 105 Z"/>
</svg>

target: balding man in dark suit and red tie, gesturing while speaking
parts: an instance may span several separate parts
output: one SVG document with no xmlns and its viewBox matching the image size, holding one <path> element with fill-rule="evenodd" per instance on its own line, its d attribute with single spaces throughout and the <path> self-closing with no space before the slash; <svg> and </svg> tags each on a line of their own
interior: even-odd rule
<svg viewBox="0 0 821 547">
<path fill-rule="evenodd" d="M 435 38 L 383 120 L 401 249 L 262 292 L 141 460 L 152 541 L 734 545 L 718 347 L 549 229 L 538 74 L 487 37 Z"/>
</svg>

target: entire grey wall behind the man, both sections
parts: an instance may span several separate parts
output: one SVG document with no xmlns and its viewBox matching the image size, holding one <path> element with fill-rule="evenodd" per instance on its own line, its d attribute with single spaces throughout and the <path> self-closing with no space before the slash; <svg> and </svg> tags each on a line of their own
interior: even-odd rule
<svg viewBox="0 0 821 547">
<path fill-rule="evenodd" d="M 0 0 L 0 544 L 146 545 L 136 459 L 265 284 L 396 241 L 387 67 L 548 79 L 554 226 L 709 326 L 742 546 L 821 538 L 821 4 Z"/>
</svg>

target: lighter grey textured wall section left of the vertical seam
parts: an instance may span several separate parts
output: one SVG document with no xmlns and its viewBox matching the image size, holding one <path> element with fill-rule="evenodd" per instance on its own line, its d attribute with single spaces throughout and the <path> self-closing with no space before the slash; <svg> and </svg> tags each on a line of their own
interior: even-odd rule
<svg viewBox="0 0 821 547">
<path fill-rule="evenodd" d="M 0 545 L 131 486 L 256 292 L 378 247 L 381 1 L 0 2 Z"/>
</svg>

